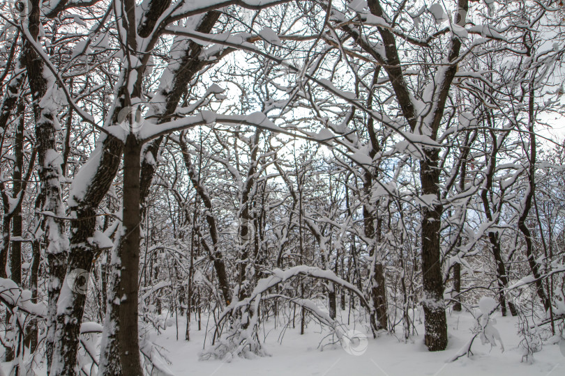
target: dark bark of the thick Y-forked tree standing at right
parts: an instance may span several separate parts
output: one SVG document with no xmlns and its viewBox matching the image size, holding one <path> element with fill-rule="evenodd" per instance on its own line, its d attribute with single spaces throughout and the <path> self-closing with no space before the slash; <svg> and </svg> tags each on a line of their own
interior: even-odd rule
<svg viewBox="0 0 565 376">
<path fill-rule="evenodd" d="M 372 15 L 389 19 L 385 14 L 379 0 L 368 1 L 369 10 Z M 455 15 L 455 23 L 465 26 L 465 17 L 469 6 L 467 0 L 459 0 L 458 8 L 462 12 Z M 430 98 L 434 104 L 430 107 L 430 112 L 416 118 L 416 111 L 412 103 L 411 93 L 406 84 L 402 73 L 398 49 L 396 47 L 396 36 L 389 29 L 378 27 L 377 30 L 382 38 L 384 56 L 379 49 L 375 49 L 368 44 L 359 33 L 354 29 L 345 26 L 349 36 L 352 36 L 356 43 L 370 54 L 379 65 L 386 71 L 396 100 L 402 110 L 402 115 L 407 121 L 412 132 L 416 130 L 416 125 L 427 123 L 430 132 L 427 134 L 430 139 L 437 139 L 439 126 L 442 124 L 444 109 L 451 83 L 457 72 L 457 58 L 459 56 L 461 41 L 457 36 L 452 36 L 447 59 L 451 62 L 445 70 L 438 70 L 435 90 Z M 444 311 L 443 298 L 443 279 L 442 279 L 442 258 L 439 242 L 439 230 L 441 228 L 441 217 L 443 212 L 442 205 L 439 204 L 439 169 L 438 169 L 439 150 L 425 148 L 423 160 L 420 163 L 420 182 L 422 194 L 430 194 L 437 197 L 437 203 L 422 210 L 421 238 L 422 238 L 422 277 L 423 277 L 423 308 L 425 314 L 425 344 L 428 350 L 444 350 L 447 345 L 447 325 Z"/>
</svg>

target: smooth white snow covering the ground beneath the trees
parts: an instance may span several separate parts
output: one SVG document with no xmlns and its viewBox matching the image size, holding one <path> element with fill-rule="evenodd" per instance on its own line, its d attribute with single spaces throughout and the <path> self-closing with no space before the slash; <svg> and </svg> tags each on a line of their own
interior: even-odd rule
<svg viewBox="0 0 565 376">
<path fill-rule="evenodd" d="M 347 322 L 347 313 L 345 322 Z M 368 336 L 366 351 L 359 355 L 348 354 L 340 343 L 331 344 L 328 331 L 319 324 L 310 322 L 306 333 L 300 335 L 299 320 L 296 328 L 286 328 L 282 343 L 280 334 L 283 327 L 275 328 L 273 322 L 266 324 L 265 347 L 270 357 L 255 359 L 236 358 L 229 363 L 220 360 L 199 360 L 204 343 L 205 322 L 202 331 L 197 331 L 193 322 L 190 342 L 184 340 L 185 318 L 179 318 L 179 340 L 176 340 L 176 325 L 168 327 L 159 335 L 152 335 L 158 345 L 163 346 L 165 356 L 171 361 L 168 366 L 174 375 L 565 375 L 565 346 L 543 344 L 541 352 L 534 355 L 533 362 L 522 362 L 522 349 L 518 347 L 521 338 L 517 334 L 517 318 L 502 317 L 495 313 L 495 327 L 499 330 L 504 352 L 501 347 L 483 345 L 476 338 L 472 345 L 473 355 L 448 362 L 467 345 L 472 338 L 471 329 L 475 320 L 470 313 L 450 313 L 449 345 L 444 352 L 428 352 L 423 344 L 423 324 L 416 324 L 417 335 L 405 343 L 402 329 L 393 334 L 381 334 L 373 339 Z M 344 320 L 342 318 L 342 320 Z M 352 329 L 353 326 L 350 326 Z M 356 330 L 364 329 L 357 324 Z M 325 338 L 324 338 L 325 337 Z M 334 339 L 335 340 L 335 339 Z M 323 346 L 320 346 L 320 343 Z M 322 349 L 322 350 L 321 350 Z"/>
</svg>

